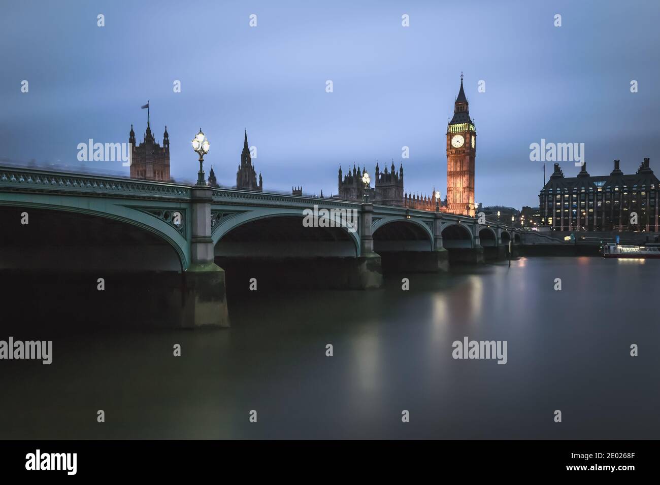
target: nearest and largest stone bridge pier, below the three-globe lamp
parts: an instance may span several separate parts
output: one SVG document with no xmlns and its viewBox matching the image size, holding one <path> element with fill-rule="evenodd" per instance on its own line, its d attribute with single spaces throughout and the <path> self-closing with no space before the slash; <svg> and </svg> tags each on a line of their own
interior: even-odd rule
<svg viewBox="0 0 660 485">
<path fill-rule="evenodd" d="M 182 327 L 229 327 L 224 270 L 213 262 L 211 201 L 213 189 L 191 190 L 191 265 L 183 273 Z"/>
</svg>

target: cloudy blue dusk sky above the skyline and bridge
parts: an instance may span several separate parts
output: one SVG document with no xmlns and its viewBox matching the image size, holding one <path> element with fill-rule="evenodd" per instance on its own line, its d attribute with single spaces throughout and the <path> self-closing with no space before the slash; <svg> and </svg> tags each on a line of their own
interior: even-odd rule
<svg viewBox="0 0 660 485">
<path fill-rule="evenodd" d="M 201 127 L 207 174 L 234 185 L 247 129 L 266 191 L 336 194 L 340 165 L 373 174 L 394 160 L 406 191 L 444 199 L 462 72 L 477 203 L 538 205 L 541 139 L 584 143 L 591 175 L 615 158 L 633 173 L 644 157 L 660 174 L 658 20 L 651 0 L 2 2 L 0 160 L 127 175 L 121 162 L 79 162 L 77 146 L 127 143 L 131 123 L 142 139 L 149 100 L 177 181 L 197 179 Z"/>
</svg>

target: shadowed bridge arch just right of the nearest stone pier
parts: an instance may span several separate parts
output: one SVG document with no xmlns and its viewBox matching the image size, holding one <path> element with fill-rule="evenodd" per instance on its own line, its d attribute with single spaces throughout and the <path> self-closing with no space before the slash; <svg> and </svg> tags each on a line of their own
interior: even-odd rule
<svg viewBox="0 0 660 485">
<path fill-rule="evenodd" d="M 305 217 L 300 208 L 263 207 L 232 213 L 214 207 L 213 252 L 216 265 L 231 282 L 228 294 L 247 295 L 257 288 L 252 285 L 266 292 L 380 286 L 380 258 L 378 275 L 372 275 L 361 257 L 357 230 L 321 225 L 318 218 L 307 220 L 316 224 L 306 226 Z M 348 219 L 359 227 L 358 220 Z"/>
</svg>

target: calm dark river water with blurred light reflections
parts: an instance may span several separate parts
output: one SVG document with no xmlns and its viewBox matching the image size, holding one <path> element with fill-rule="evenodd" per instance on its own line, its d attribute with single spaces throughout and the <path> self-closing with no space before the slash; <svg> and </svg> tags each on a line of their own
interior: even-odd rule
<svg viewBox="0 0 660 485">
<path fill-rule="evenodd" d="M 0 438 L 659 438 L 659 270 L 521 258 L 252 292 L 231 329 L 57 337 L 50 366 L 1 363 Z M 465 336 L 508 340 L 508 363 L 453 360 Z"/>
</svg>

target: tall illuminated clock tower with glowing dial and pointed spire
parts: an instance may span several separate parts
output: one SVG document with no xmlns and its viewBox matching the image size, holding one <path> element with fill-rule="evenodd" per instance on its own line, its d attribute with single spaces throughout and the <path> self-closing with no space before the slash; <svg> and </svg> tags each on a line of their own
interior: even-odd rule
<svg viewBox="0 0 660 485">
<path fill-rule="evenodd" d="M 447 212 L 452 214 L 475 216 L 476 142 L 477 132 L 470 119 L 461 73 L 461 90 L 447 125 Z"/>
</svg>

